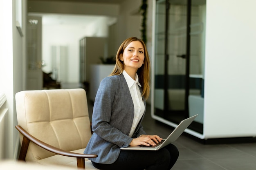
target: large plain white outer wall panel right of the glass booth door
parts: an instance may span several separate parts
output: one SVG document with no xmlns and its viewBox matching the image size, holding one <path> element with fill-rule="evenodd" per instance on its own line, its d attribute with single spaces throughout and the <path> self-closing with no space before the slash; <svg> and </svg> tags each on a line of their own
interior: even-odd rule
<svg viewBox="0 0 256 170">
<path fill-rule="evenodd" d="M 256 136 L 255 7 L 255 0 L 207 0 L 206 138 Z"/>
</svg>

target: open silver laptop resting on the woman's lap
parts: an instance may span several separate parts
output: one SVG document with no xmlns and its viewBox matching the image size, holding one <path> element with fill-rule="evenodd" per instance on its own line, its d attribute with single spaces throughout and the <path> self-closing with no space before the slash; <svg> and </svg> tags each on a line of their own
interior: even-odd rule
<svg viewBox="0 0 256 170">
<path fill-rule="evenodd" d="M 171 134 L 166 139 L 163 139 L 164 142 L 162 142 L 162 144 L 160 144 L 158 146 L 155 146 L 155 147 L 153 147 L 153 146 L 151 146 L 151 147 L 128 146 L 128 147 L 120 148 L 120 149 L 122 149 L 122 150 L 159 150 L 159 149 L 163 148 L 164 146 L 171 144 L 176 139 L 178 139 L 178 137 L 180 137 L 180 135 L 184 132 L 184 130 L 192 123 L 192 121 L 195 119 L 195 117 L 197 117 L 197 115 L 194 115 L 192 117 L 182 120 L 180 122 L 180 124 L 173 130 L 173 132 L 171 132 Z"/>
</svg>

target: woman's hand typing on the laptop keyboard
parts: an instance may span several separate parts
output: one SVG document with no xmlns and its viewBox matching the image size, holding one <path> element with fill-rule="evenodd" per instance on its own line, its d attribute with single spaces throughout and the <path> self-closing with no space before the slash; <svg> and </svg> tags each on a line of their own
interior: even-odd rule
<svg viewBox="0 0 256 170">
<path fill-rule="evenodd" d="M 132 139 L 130 146 L 155 146 L 159 141 L 162 141 L 162 138 L 157 135 L 140 135 L 139 137 Z"/>
</svg>

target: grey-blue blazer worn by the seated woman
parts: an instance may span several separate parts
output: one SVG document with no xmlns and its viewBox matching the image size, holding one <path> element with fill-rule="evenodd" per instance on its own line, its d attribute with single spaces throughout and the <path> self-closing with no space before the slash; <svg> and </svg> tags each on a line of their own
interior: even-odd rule
<svg viewBox="0 0 256 170">
<path fill-rule="evenodd" d="M 146 110 L 145 101 L 144 104 Z M 132 138 L 146 134 L 141 126 L 144 115 L 132 137 L 129 137 L 134 106 L 126 79 L 123 74 L 104 78 L 97 91 L 93 107 L 92 130 L 94 133 L 84 153 L 97 154 L 97 158 L 90 158 L 96 163 L 114 163 L 121 147 L 129 146 Z"/>
</svg>

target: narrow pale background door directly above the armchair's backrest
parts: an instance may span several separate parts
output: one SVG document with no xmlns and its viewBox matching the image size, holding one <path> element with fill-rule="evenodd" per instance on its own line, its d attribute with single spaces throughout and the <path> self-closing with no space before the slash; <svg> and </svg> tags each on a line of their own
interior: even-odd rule
<svg viewBox="0 0 256 170">
<path fill-rule="evenodd" d="M 27 17 L 27 90 L 43 89 L 42 18 Z"/>
</svg>

